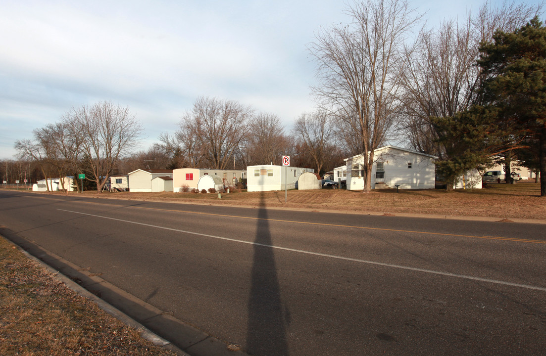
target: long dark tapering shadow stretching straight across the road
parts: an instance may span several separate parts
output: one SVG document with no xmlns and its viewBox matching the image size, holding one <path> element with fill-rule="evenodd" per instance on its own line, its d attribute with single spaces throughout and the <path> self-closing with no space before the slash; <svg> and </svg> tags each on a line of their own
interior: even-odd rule
<svg viewBox="0 0 546 356">
<path fill-rule="evenodd" d="M 258 218 L 248 300 L 247 351 L 254 355 L 288 356 L 285 313 L 263 193 Z"/>
</svg>

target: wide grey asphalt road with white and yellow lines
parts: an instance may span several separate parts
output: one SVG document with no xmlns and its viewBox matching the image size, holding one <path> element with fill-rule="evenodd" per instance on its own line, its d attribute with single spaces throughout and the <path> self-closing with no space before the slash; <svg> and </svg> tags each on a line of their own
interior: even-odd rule
<svg viewBox="0 0 546 356">
<path fill-rule="evenodd" d="M 546 354 L 546 225 L 9 191 L 0 224 L 254 355 Z"/>
</svg>

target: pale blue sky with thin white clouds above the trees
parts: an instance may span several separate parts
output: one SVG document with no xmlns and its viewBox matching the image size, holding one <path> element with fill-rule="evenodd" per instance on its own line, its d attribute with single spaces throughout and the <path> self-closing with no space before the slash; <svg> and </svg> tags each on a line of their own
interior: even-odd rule
<svg viewBox="0 0 546 356">
<path fill-rule="evenodd" d="M 411 5 L 436 25 L 480 3 Z M 4 0 L 0 159 L 13 159 L 15 140 L 71 107 L 104 100 L 135 114 L 143 150 L 175 131 L 198 96 L 252 105 L 290 129 L 314 108 L 306 46 L 319 26 L 347 22 L 344 8 L 328 0 Z"/>
</svg>

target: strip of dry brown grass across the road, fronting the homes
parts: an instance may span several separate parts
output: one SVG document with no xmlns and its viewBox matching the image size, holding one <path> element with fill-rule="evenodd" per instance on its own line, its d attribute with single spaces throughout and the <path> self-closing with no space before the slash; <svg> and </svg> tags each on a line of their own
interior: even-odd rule
<svg viewBox="0 0 546 356">
<path fill-rule="evenodd" d="M 57 192 L 56 194 L 66 194 Z M 102 198 L 121 198 L 180 203 L 222 204 L 281 208 L 304 208 L 340 212 L 416 213 L 495 218 L 546 219 L 546 198 L 540 197 L 540 186 L 534 182 L 489 184 L 484 189 L 444 191 L 373 190 L 369 194 L 341 189 L 289 190 L 288 203 L 284 191 L 232 192 L 222 194 L 84 192 Z M 70 195 L 76 195 L 71 192 Z"/>
</svg>

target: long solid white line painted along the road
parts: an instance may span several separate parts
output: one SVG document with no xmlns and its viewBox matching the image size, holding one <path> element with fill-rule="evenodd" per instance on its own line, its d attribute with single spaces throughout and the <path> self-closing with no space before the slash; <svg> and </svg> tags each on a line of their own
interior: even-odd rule
<svg viewBox="0 0 546 356">
<path fill-rule="evenodd" d="M 474 281 L 480 281 L 480 282 L 488 282 L 488 283 L 495 283 L 495 284 L 498 284 L 498 285 L 505 285 L 505 286 L 512 286 L 512 287 L 519 287 L 519 288 L 526 288 L 526 289 L 534 289 L 536 291 L 546 292 L 546 287 L 537 287 L 537 286 L 525 285 L 525 284 L 521 284 L 521 283 L 498 281 L 498 280 L 482 278 L 482 277 L 465 276 L 465 275 L 462 275 L 462 274 L 448 273 L 448 272 L 442 272 L 442 271 L 434 271 L 434 270 L 430 270 L 430 269 L 399 266 L 397 264 L 359 260 L 358 258 L 343 257 L 343 256 L 329 255 L 329 254 L 321 254 L 320 252 L 311 252 L 311 251 L 304 251 L 304 250 L 289 249 L 289 248 L 284 248 L 284 247 L 280 247 L 280 246 L 265 245 L 265 244 L 259 244 L 259 243 L 256 243 L 256 242 L 237 240 L 237 239 L 230 239 L 228 237 L 221 237 L 221 236 L 202 234 L 202 233 L 199 233 L 199 232 L 185 231 L 185 230 L 180 230 L 180 229 L 176 229 L 176 228 L 170 228 L 170 227 L 164 227 L 164 226 L 158 226 L 158 225 L 151 225 L 151 224 L 144 224 L 143 222 L 136 222 L 136 221 L 129 221 L 129 220 L 110 218 L 108 216 L 100 216 L 100 215 L 95 215 L 95 214 L 80 213 L 80 212 L 74 212 L 72 210 L 64 210 L 64 209 L 57 209 L 57 210 L 61 210 L 62 212 L 74 213 L 74 214 L 94 216 L 96 218 L 127 222 L 129 224 L 136 224 L 136 225 L 143 225 L 143 226 L 161 228 L 163 230 L 170 230 L 170 231 L 182 232 L 182 233 L 193 234 L 193 235 L 198 235 L 198 236 L 211 237 L 211 238 L 220 239 L 220 240 L 238 242 L 238 243 L 242 243 L 242 244 L 255 245 L 255 246 L 264 246 L 264 247 L 271 248 L 271 249 L 284 250 L 284 251 L 290 251 L 290 252 L 298 252 L 300 254 L 336 258 L 337 260 L 366 263 L 366 264 L 372 264 L 372 265 L 375 265 L 375 266 L 405 269 L 405 270 L 411 270 L 411 271 L 417 271 L 417 272 L 423 272 L 423 273 L 431 273 L 431 274 L 437 274 L 437 275 L 442 275 L 442 276 L 457 277 L 457 278 L 462 278 L 462 279 L 468 279 L 468 280 L 474 280 Z"/>
</svg>

